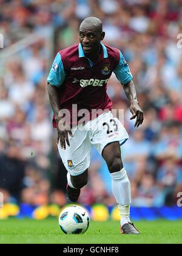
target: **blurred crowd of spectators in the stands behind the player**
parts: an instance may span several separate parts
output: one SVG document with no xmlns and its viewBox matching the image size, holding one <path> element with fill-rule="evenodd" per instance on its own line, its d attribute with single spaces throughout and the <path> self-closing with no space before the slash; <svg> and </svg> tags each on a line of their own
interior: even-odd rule
<svg viewBox="0 0 182 256">
<path fill-rule="evenodd" d="M 104 43 L 123 53 L 133 74 L 144 124 L 135 129 L 115 75 L 113 108 L 124 109 L 130 140 L 121 148 L 135 206 L 173 205 L 182 191 L 181 0 L 0 0 L 4 48 L 29 36 L 54 33 L 54 52 L 78 42 L 87 16 L 103 21 Z M 0 54 L 2 49 L 0 49 Z M 47 45 L 38 40 L 0 59 L 0 190 L 6 202 L 64 205 L 66 170 L 56 149 L 47 99 Z M 1 58 L 1 55 L 0 55 Z M 81 204 L 115 204 L 106 163 L 95 149 Z"/>
</svg>

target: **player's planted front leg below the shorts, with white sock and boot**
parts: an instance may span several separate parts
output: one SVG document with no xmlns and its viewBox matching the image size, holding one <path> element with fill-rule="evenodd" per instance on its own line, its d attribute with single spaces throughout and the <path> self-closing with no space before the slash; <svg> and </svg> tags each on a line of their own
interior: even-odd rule
<svg viewBox="0 0 182 256">
<path fill-rule="evenodd" d="M 112 191 L 120 210 L 121 232 L 139 234 L 138 230 L 130 223 L 130 181 L 121 160 L 119 141 L 107 144 L 103 149 L 103 157 L 106 160 L 110 176 L 112 177 Z"/>
</svg>

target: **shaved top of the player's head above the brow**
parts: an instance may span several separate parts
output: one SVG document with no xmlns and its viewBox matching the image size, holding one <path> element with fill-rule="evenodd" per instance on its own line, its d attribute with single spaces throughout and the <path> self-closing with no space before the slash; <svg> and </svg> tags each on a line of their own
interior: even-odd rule
<svg viewBox="0 0 182 256">
<path fill-rule="evenodd" d="M 84 29 L 91 29 L 91 30 L 96 30 L 98 32 L 103 32 L 103 23 L 101 20 L 99 20 L 96 17 L 89 17 L 83 20 L 81 23 L 79 30 L 84 30 Z"/>
</svg>

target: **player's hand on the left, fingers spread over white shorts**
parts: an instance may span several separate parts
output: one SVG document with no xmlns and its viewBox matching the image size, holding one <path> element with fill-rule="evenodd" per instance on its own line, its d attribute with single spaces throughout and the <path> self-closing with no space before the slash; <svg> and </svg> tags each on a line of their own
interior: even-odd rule
<svg viewBox="0 0 182 256">
<path fill-rule="evenodd" d="M 61 143 L 61 149 L 66 149 L 66 142 L 67 145 L 70 146 L 69 138 L 68 138 L 68 133 L 71 137 L 73 137 L 73 133 L 70 129 L 70 126 L 67 126 L 65 121 L 61 118 L 56 119 L 57 123 L 57 130 L 58 130 L 58 139 L 57 139 L 57 144 Z"/>
</svg>

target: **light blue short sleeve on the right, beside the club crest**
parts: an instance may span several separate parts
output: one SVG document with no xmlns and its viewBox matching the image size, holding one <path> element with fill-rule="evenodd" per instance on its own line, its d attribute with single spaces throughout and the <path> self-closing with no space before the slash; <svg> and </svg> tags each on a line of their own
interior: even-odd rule
<svg viewBox="0 0 182 256">
<path fill-rule="evenodd" d="M 116 69 L 113 70 L 113 72 L 122 84 L 129 83 L 133 78 L 132 74 L 130 73 L 129 65 L 127 65 L 126 60 L 123 57 L 123 54 L 121 54 L 121 51 L 120 62 L 118 66 L 116 66 Z"/>
</svg>

